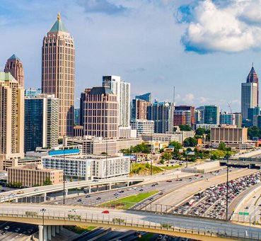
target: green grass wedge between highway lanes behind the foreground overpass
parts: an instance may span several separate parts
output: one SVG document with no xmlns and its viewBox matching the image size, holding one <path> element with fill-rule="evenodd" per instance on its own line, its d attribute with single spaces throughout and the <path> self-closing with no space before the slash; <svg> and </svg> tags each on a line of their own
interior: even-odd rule
<svg viewBox="0 0 261 241">
<path fill-rule="evenodd" d="M 120 198 L 114 201 L 110 201 L 108 203 L 103 203 L 99 207 L 107 207 L 107 208 L 120 208 L 120 209 L 129 209 L 132 208 L 135 204 L 143 201 L 149 196 L 157 194 L 158 191 L 150 191 L 148 193 L 137 194 L 133 196 L 127 196 L 124 198 Z"/>
</svg>

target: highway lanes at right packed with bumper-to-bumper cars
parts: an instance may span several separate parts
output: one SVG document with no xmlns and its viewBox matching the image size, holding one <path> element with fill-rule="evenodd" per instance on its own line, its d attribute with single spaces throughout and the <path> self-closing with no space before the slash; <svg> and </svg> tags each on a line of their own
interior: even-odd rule
<svg viewBox="0 0 261 241">
<path fill-rule="evenodd" d="M 215 174 L 215 173 L 213 173 Z M 260 172 L 228 181 L 228 206 L 236 196 L 260 183 Z M 173 213 L 226 218 L 226 183 L 210 186 L 175 208 Z"/>
</svg>

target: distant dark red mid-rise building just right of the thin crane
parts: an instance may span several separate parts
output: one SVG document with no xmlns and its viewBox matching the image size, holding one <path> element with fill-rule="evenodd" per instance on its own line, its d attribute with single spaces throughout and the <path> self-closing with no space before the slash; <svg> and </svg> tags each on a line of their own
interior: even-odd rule
<svg viewBox="0 0 261 241">
<path fill-rule="evenodd" d="M 195 107 L 194 106 L 175 106 L 173 125 L 195 126 Z"/>
</svg>

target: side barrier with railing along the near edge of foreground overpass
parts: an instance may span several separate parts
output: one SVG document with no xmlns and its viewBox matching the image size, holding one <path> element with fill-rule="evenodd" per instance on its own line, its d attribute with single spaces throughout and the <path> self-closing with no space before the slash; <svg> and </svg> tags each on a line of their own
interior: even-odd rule
<svg viewBox="0 0 261 241">
<path fill-rule="evenodd" d="M 37 220 L 35 223 L 39 223 L 39 220 L 45 218 L 45 223 L 48 224 L 48 220 L 52 220 L 52 224 L 54 221 L 57 221 L 55 225 L 61 225 L 64 221 L 71 222 L 71 225 L 75 225 L 77 223 L 92 223 L 95 226 L 103 226 L 103 225 L 116 225 L 122 226 L 124 228 L 129 228 L 132 230 L 156 230 L 157 232 L 163 232 L 164 230 L 169 232 L 184 232 L 186 234 L 192 235 L 204 235 L 209 237 L 224 237 L 224 238 L 236 238 L 238 240 L 260 240 L 261 231 L 257 232 L 255 230 L 251 231 L 247 227 L 240 228 L 224 228 L 222 225 L 215 225 L 213 227 L 202 226 L 203 224 L 195 225 L 187 223 L 186 220 L 175 221 L 175 222 L 151 222 L 147 220 L 141 220 L 137 218 L 129 218 L 129 217 L 119 217 L 115 215 L 94 215 L 93 213 L 69 213 L 69 212 L 45 212 L 44 217 L 42 214 L 37 211 L 25 211 L 19 209 L 10 209 L 10 210 L 1 210 L 0 219 L 5 220 L 5 218 L 16 218 L 16 221 L 21 218 L 28 218 Z M 31 221 L 30 223 L 33 223 Z"/>
</svg>

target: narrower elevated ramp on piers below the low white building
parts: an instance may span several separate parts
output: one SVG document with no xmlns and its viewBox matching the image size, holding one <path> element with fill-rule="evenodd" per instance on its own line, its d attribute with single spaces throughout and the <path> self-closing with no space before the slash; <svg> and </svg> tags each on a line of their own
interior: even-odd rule
<svg viewBox="0 0 261 241">
<path fill-rule="evenodd" d="M 36 186 L 30 187 L 26 189 L 18 189 L 13 191 L 6 191 L 1 193 L 0 203 L 6 201 L 18 201 L 18 198 L 24 198 L 28 196 L 44 196 L 44 201 L 46 201 L 47 194 L 56 193 L 63 191 L 65 189 L 65 196 L 68 196 L 69 189 L 78 189 L 78 188 L 88 188 L 89 193 L 91 193 L 91 188 L 93 186 L 109 186 L 109 189 L 115 188 L 117 184 L 126 184 L 126 186 L 137 184 L 139 182 L 144 181 L 144 178 L 132 178 L 132 177 L 124 177 L 124 178 L 115 178 L 115 179 L 103 179 L 100 181 L 74 181 L 74 182 L 66 182 L 65 188 L 64 184 L 55 184 L 50 186 Z M 23 194 L 18 194 L 18 191 L 23 191 Z"/>
</svg>

